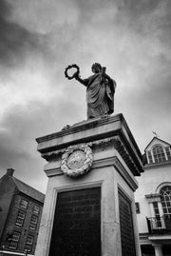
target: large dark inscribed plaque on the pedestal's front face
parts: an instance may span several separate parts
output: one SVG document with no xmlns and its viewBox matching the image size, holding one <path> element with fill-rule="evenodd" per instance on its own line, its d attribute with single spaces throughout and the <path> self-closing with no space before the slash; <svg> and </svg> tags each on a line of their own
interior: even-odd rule
<svg viewBox="0 0 171 256">
<path fill-rule="evenodd" d="M 60 192 L 49 256 L 101 256 L 101 188 Z"/>
</svg>

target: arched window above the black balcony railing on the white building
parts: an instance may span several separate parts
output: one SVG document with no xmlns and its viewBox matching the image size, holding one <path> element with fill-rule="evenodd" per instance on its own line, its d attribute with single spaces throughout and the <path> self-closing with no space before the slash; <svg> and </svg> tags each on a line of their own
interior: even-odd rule
<svg viewBox="0 0 171 256">
<path fill-rule="evenodd" d="M 161 204 L 163 215 L 165 218 L 171 219 L 171 186 L 164 186 L 161 188 Z"/>
</svg>

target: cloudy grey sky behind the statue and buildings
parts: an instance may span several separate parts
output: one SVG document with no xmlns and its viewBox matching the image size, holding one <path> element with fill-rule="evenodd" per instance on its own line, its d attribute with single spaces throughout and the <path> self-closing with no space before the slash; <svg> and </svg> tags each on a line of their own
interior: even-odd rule
<svg viewBox="0 0 171 256">
<path fill-rule="evenodd" d="M 170 0 L 0 0 L 0 176 L 43 192 L 35 138 L 86 119 L 83 78 L 94 62 L 116 80 L 115 113 L 142 150 L 156 131 L 171 143 Z"/>
</svg>

